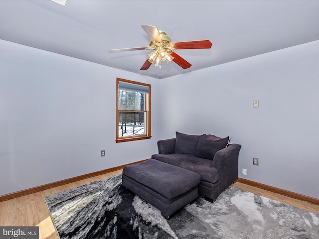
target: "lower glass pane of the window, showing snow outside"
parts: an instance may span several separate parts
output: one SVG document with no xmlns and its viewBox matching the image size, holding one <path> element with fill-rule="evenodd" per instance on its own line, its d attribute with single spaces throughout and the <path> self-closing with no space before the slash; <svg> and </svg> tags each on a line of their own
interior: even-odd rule
<svg viewBox="0 0 319 239">
<path fill-rule="evenodd" d="M 119 137 L 146 134 L 145 112 L 119 111 Z"/>
</svg>

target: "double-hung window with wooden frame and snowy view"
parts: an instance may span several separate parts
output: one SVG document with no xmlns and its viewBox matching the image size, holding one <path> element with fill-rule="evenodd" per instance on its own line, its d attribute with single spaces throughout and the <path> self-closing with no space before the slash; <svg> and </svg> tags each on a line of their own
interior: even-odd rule
<svg viewBox="0 0 319 239">
<path fill-rule="evenodd" d="M 116 79 L 116 142 L 151 138 L 151 85 Z"/>
</svg>

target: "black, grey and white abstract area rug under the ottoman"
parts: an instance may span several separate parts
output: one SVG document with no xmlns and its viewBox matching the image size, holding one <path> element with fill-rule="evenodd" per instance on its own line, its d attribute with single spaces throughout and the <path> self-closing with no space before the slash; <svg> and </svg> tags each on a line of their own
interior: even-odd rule
<svg viewBox="0 0 319 239">
<path fill-rule="evenodd" d="M 61 239 L 319 239 L 319 215 L 229 187 L 170 220 L 123 186 L 122 175 L 46 196 Z"/>
</svg>

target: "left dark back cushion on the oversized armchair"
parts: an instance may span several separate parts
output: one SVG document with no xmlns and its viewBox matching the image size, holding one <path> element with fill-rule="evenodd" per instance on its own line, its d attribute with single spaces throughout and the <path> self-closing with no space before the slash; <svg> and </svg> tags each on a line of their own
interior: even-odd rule
<svg viewBox="0 0 319 239">
<path fill-rule="evenodd" d="M 176 132 L 175 153 L 195 154 L 199 137 L 201 135 L 188 135 Z"/>
</svg>

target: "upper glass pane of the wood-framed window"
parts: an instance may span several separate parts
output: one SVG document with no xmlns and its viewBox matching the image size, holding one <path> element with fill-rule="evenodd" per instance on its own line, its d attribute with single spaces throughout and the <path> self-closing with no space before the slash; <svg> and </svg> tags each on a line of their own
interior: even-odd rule
<svg viewBox="0 0 319 239">
<path fill-rule="evenodd" d="M 145 111 L 144 93 L 119 90 L 119 110 Z"/>
</svg>

